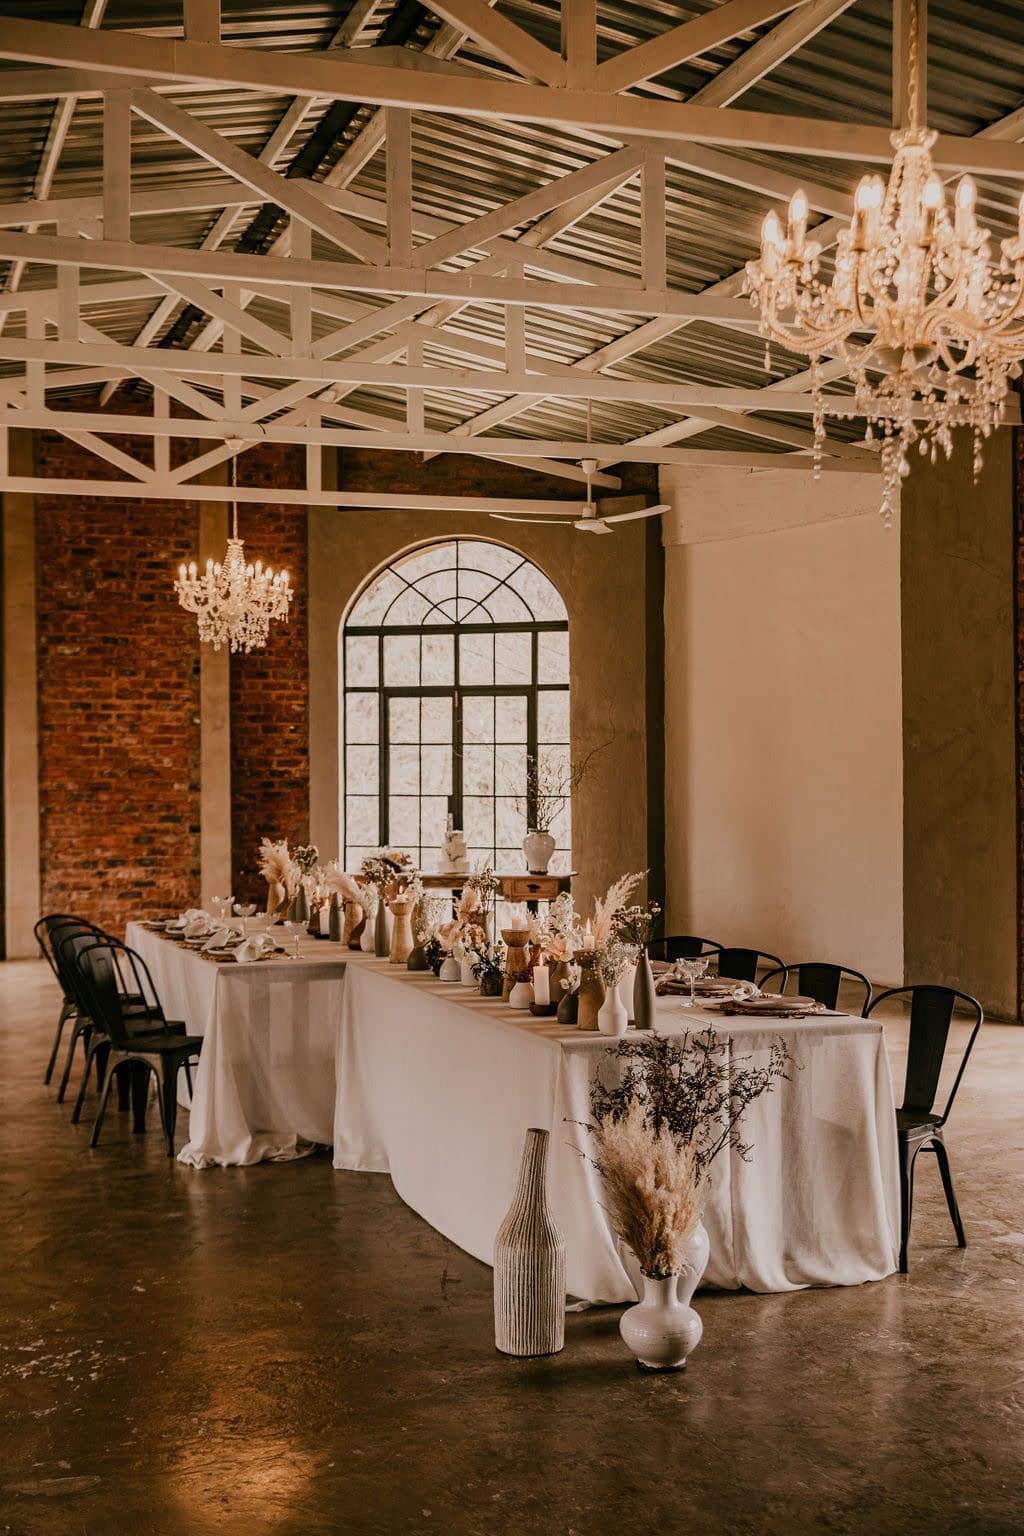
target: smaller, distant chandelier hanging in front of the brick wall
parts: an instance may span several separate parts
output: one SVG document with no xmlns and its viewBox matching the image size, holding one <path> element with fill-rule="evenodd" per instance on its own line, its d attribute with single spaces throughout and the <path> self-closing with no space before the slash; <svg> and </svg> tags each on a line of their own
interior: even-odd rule
<svg viewBox="0 0 1024 1536">
<path fill-rule="evenodd" d="M 235 490 L 235 456 L 232 455 L 232 490 Z M 263 561 L 246 565 L 246 545 L 238 538 L 238 502 L 232 498 L 232 536 L 224 561 L 207 561 L 203 576 L 195 561 L 178 567 L 173 584 L 186 613 L 195 613 L 200 641 L 220 651 L 224 641 L 232 651 L 263 650 L 270 634 L 272 619 L 286 619 L 292 602 L 289 573 L 275 576 Z"/>
</svg>

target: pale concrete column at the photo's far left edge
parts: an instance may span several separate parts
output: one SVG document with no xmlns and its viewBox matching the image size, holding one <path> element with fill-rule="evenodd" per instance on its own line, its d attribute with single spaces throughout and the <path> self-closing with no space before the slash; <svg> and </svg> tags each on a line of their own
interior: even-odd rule
<svg viewBox="0 0 1024 1536">
<path fill-rule="evenodd" d="M 11 473 L 32 475 L 32 438 L 11 433 Z M 37 955 L 40 917 L 35 498 L 3 496 L 3 889 L 9 960 Z"/>
</svg>

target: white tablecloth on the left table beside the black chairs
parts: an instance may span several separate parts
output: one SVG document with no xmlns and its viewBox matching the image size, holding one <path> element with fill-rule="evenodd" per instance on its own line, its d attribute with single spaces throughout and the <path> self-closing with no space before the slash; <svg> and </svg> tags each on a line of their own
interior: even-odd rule
<svg viewBox="0 0 1024 1536">
<path fill-rule="evenodd" d="M 167 1017 L 204 1035 L 180 1161 L 281 1161 L 332 1144 L 342 951 L 309 940 L 301 960 L 218 965 L 138 923 L 127 943 Z"/>
</svg>

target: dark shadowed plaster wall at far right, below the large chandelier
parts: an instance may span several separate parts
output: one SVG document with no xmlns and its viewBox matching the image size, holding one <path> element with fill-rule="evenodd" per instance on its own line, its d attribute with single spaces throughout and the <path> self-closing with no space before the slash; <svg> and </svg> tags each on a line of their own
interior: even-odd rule
<svg viewBox="0 0 1024 1536">
<path fill-rule="evenodd" d="M 903 493 L 907 977 L 1016 1015 L 1013 444 L 969 441 Z"/>
</svg>

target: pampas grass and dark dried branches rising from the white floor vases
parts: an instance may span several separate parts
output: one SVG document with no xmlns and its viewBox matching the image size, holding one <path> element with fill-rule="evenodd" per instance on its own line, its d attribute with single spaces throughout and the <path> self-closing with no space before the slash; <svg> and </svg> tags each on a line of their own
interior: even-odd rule
<svg viewBox="0 0 1024 1536">
<path fill-rule="evenodd" d="M 728 1038 L 700 1034 L 623 1040 L 605 1052 L 616 1063 L 608 1086 L 591 1086 L 591 1161 L 605 1181 L 608 1213 L 645 1275 L 679 1273 L 703 1207 L 703 1183 L 726 1147 L 749 1160 L 743 1115 L 775 1083 L 788 1081 L 781 1040 L 766 1066 L 729 1057 Z"/>
</svg>

